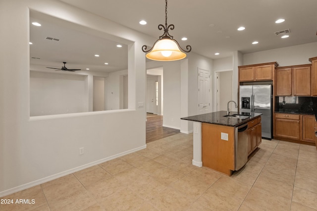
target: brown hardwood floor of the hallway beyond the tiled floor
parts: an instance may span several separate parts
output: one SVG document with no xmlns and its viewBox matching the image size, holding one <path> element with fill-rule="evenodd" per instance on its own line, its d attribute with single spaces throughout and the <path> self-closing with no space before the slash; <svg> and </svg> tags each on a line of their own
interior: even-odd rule
<svg viewBox="0 0 317 211">
<path fill-rule="evenodd" d="M 179 133 L 179 130 L 163 127 L 163 116 L 147 114 L 146 143 Z"/>
</svg>

